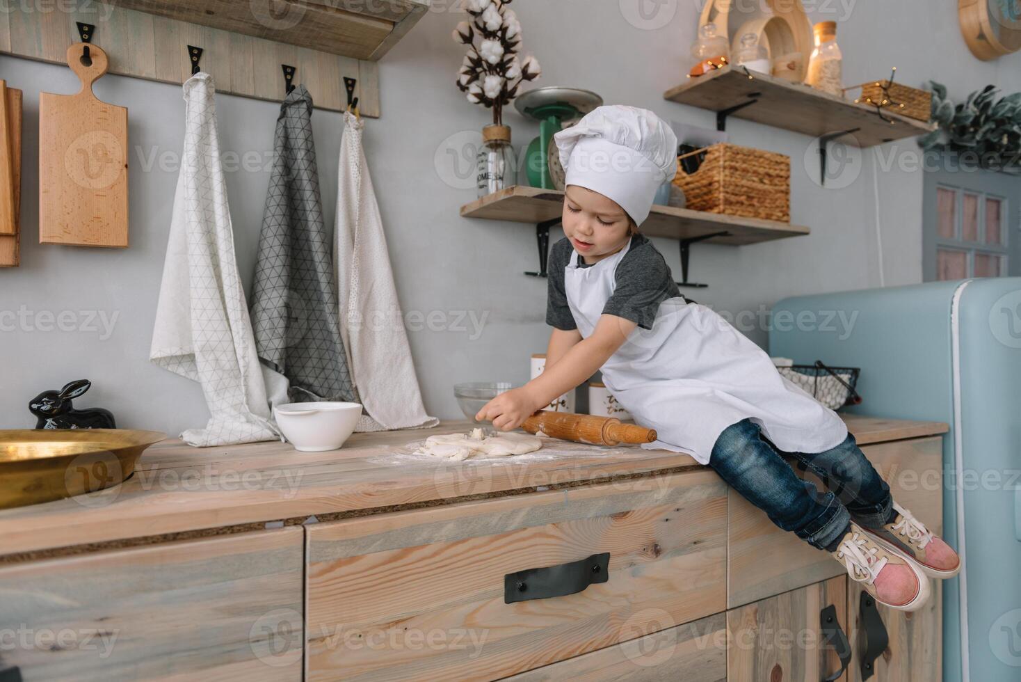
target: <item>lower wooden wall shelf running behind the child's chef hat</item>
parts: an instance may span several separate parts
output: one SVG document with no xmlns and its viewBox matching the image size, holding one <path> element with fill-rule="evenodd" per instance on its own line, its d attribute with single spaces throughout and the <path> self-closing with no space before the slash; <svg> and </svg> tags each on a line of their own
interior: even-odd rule
<svg viewBox="0 0 1021 682">
<path fill-rule="evenodd" d="M 515 185 L 465 204 L 460 207 L 460 214 L 464 217 L 537 225 L 560 217 L 564 210 L 563 203 L 564 192 Z M 652 206 L 652 212 L 641 226 L 643 235 L 668 239 L 691 239 L 724 230 L 729 233 L 727 236 L 712 237 L 706 242 L 739 246 L 786 237 L 800 237 L 810 233 L 808 228 L 789 223 L 721 215 L 670 206 Z"/>
</svg>

